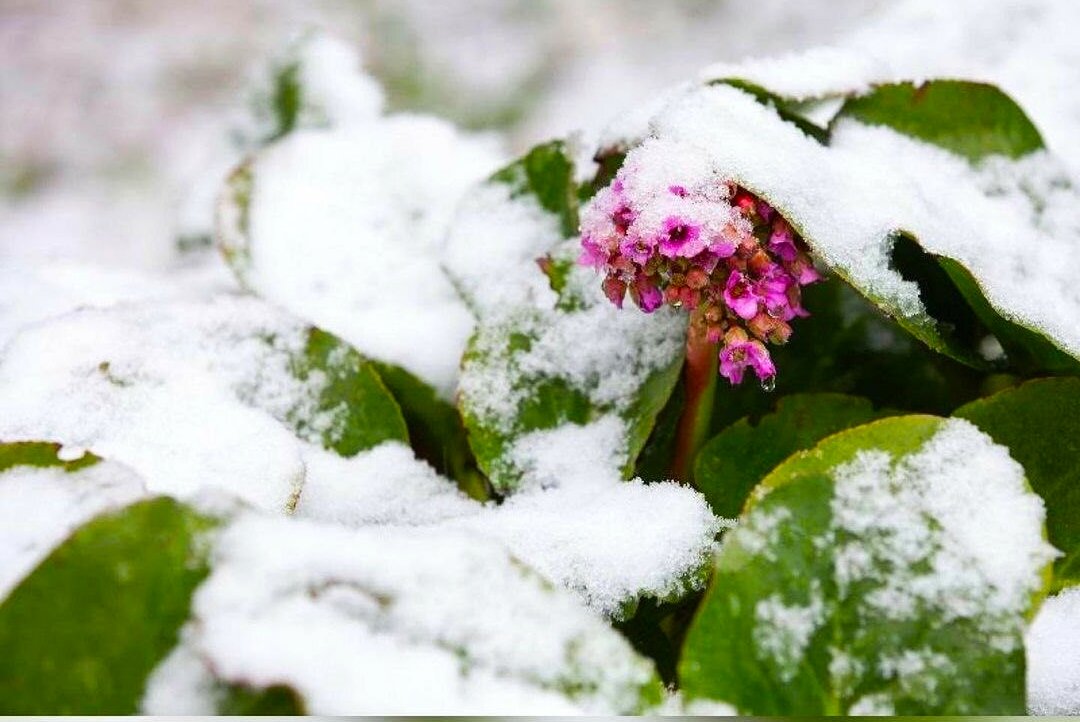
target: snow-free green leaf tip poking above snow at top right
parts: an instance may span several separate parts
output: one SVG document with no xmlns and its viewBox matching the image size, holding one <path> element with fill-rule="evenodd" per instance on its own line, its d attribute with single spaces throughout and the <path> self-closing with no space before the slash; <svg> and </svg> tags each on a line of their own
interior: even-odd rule
<svg viewBox="0 0 1080 722">
<path fill-rule="evenodd" d="M 878 85 L 848 99 L 836 119 L 886 125 L 970 161 L 1021 158 L 1043 148 L 1023 109 L 999 88 L 966 80 Z"/>
</svg>

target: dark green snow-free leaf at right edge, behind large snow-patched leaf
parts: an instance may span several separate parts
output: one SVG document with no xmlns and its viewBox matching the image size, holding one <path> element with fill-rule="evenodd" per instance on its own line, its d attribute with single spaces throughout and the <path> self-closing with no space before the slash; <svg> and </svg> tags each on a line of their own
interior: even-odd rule
<svg viewBox="0 0 1080 722">
<path fill-rule="evenodd" d="M 1080 379 L 1039 379 L 956 410 L 1009 447 L 1047 503 L 1047 534 L 1064 553 L 1054 588 L 1080 584 Z"/>
</svg>

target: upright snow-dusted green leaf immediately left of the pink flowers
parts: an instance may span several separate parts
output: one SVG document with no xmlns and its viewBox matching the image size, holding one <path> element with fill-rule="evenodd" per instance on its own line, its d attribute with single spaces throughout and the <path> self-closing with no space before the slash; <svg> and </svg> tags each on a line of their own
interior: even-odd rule
<svg viewBox="0 0 1080 722">
<path fill-rule="evenodd" d="M 685 319 L 613 309 L 572 262 L 576 217 L 572 163 L 551 144 L 481 187 L 451 232 L 448 270 L 480 319 L 459 404 L 476 460 L 501 492 L 521 480 L 516 439 L 611 412 L 626 421 L 629 473 L 681 369 Z M 545 264 L 561 269 L 555 284 Z"/>
</svg>

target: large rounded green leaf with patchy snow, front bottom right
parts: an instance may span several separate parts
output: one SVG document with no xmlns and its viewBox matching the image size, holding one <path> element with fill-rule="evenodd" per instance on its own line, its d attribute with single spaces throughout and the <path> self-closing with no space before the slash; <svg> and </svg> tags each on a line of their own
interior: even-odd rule
<svg viewBox="0 0 1080 722">
<path fill-rule="evenodd" d="M 746 714 L 1024 712 L 1027 610 L 996 607 L 986 577 L 949 571 L 941 549 L 953 549 L 953 563 L 967 557 L 946 546 L 953 532 L 935 509 L 947 506 L 917 495 L 905 476 L 919 468 L 905 458 L 946 423 L 860 426 L 766 478 L 725 537 L 688 635 L 679 667 L 688 697 Z M 837 479 L 850 472 L 838 467 L 873 463 L 868 450 L 891 461 L 869 472 L 874 482 L 848 477 L 841 494 Z M 1037 585 L 1031 570 L 1025 605 Z"/>
</svg>

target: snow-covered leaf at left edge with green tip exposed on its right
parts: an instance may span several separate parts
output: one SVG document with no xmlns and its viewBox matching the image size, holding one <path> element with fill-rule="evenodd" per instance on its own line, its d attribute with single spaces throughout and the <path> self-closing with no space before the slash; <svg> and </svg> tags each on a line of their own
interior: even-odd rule
<svg viewBox="0 0 1080 722">
<path fill-rule="evenodd" d="M 56 439 L 151 491 L 224 488 L 288 510 L 324 457 L 407 441 L 355 350 L 247 297 L 82 310 L 17 335 L 0 359 L 0 438 Z"/>
</svg>

